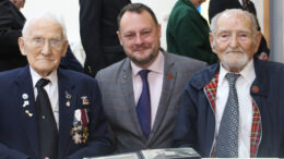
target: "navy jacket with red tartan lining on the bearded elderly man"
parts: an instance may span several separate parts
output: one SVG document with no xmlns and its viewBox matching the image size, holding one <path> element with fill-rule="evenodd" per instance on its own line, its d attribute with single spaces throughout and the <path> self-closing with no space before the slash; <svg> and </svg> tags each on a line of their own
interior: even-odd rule
<svg viewBox="0 0 284 159">
<path fill-rule="evenodd" d="M 220 64 L 196 73 L 189 81 L 174 131 L 174 147 L 193 147 L 211 157 L 215 133 L 215 96 Z M 251 157 L 284 157 L 284 65 L 255 59 L 250 87 L 253 107 Z"/>
</svg>

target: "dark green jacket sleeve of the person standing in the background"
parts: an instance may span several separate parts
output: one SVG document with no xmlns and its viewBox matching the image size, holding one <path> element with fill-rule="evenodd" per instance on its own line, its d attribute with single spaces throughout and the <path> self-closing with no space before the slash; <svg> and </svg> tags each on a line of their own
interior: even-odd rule
<svg viewBox="0 0 284 159">
<path fill-rule="evenodd" d="M 185 17 L 178 22 L 175 28 L 177 48 L 179 53 L 193 59 L 205 61 L 209 64 L 217 62 L 217 57 L 212 52 L 209 30 L 204 32 L 200 17 L 188 12 Z"/>
</svg>

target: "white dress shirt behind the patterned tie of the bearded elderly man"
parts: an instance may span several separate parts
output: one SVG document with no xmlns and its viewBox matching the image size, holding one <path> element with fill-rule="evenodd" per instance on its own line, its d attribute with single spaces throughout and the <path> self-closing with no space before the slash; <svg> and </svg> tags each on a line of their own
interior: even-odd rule
<svg viewBox="0 0 284 159">
<path fill-rule="evenodd" d="M 215 139 L 218 135 L 220 123 L 228 98 L 228 81 L 225 75 L 228 73 L 222 64 L 220 66 L 218 84 L 216 91 L 216 112 L 215 112 Z M 236 82 L 239 103 L 239 140 L 238 157 L 250 157 L 250 135 L 252 124 L 252 98 L 250 96 L 250 86 L 256 78 L 253 60 L 251 60 L 240 72 Z"/>
</svg>

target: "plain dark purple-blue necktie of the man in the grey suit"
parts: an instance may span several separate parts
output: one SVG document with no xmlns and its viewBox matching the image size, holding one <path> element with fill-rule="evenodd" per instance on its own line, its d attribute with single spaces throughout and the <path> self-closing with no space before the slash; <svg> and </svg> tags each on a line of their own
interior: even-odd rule
<svg viewBox="0 0 284 159">
<path fill-rule="evenodd" d="M 137 113 L 139 118 L 139 123 L 142 129 L 143 134 L 149 137 L 151 132 L 151 99 L 150 99 L 150 90 L 147 83 L 147 73 L 149 70 L 141 70 L 139 72 L 142 78 L 142 93 L 138 101 Z"/>
</svg>

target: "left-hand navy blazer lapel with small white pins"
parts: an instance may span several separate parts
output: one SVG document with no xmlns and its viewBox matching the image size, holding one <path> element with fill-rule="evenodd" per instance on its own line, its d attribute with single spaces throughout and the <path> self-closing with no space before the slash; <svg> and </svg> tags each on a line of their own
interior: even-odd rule
<svg viewBox="0 0 284 159">
<path fill-rule="evenodd" d="M 26 66 L 20 71 L 19 76 L 14 80 L 16 85 L 16 108 L 20 112 L 20 122 L 34 154 L 38 157 L 38 137 L 37 137 L 37 123 L 35 113 L 35 96 L 33 89 L 32 76 L 29 68 Z M 26 105 L 24 105 L 26 103 Z"/>
</svg>

